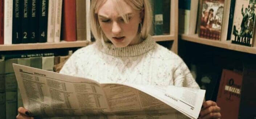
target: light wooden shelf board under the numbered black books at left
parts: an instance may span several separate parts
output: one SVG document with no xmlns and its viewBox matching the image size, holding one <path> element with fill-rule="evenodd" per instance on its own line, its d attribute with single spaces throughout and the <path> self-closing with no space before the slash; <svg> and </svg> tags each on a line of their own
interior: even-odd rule
<svg viewBox="0 0 256 119">
<path fill-rule="evenodd" d="M 74 48 L 84 47 L 89 41 L 61 41 L 60 43 L 28 43 L 28 44 L 10 44 L 0 45 L 0 51 L 10 50 L 34 50 L 34 49 L 53 49 L 53 48 Z"/>
</svg>

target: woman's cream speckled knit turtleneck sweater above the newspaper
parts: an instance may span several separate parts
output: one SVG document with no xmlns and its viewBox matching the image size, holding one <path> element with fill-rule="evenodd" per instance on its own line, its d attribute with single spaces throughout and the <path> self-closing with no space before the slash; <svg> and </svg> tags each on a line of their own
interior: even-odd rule
<svg viewBox="0 0 256 119">
<path fill-rule="evenodd" d="M 96 41 L 74 52 L 60 73 L 100 83 L 129 82 L 199 88 L 183 60 L 155 43 L 151 36 L 140 44 L 125 48 Z"/>
</svg>

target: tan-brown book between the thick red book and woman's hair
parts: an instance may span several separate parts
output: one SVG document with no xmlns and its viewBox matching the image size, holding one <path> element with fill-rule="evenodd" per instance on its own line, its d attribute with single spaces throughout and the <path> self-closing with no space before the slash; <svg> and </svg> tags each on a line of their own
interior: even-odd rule
<svg viewBox="0 0 256 119">
<path fill-rule="evenodd" d="M 86 33 L 86 5 L 85 0 L 76 0 L 76 19 L 77 19 L 77 40 L 87 40 L 87 33 Z"/>
</svg>

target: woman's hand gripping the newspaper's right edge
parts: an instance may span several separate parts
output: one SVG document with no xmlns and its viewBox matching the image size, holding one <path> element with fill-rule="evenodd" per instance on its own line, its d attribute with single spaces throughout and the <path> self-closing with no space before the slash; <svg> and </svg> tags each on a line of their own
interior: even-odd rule
<svg viewBox="0 0 256 119">
<path fill-rule="evenodd" d="M 220 119 L 220 117 L 220 107 L 218 107 L 216 102 L 208 100 L 203 103 L 199 119 Z"/>
</svg>

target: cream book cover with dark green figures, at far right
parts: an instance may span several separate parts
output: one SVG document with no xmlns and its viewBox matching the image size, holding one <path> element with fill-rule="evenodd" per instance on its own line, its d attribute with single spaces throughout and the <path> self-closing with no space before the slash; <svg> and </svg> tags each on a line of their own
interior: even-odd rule
<svg viewBox="0 0 256 119">
<path fill-rule="evenodd" d="M 255 5 L 252 0 L 236 0 L 231 43 L 252 47 L 255 26 Z"/>
</svg>

